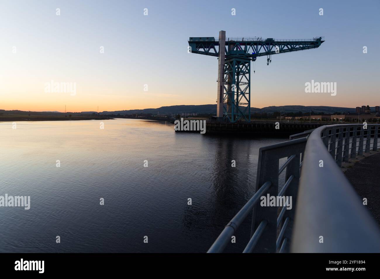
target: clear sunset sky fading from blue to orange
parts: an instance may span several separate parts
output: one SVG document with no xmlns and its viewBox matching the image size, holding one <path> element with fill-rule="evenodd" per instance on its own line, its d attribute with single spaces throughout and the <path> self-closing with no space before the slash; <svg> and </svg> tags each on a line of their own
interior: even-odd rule
<svg viewBox="0 0 380 279">
<path fill-rule="evenodd" d="M 187 47 L 189 37 L 218 38 L 220 30 L 226 37 L 325 36 L 317 49 L 273 55 L 269 66 L 258 57 L 255 74 L 251 64 L 251 107 L 378 106 L 379 12 L 379 0 L 2 0 L 0 109 L 215 104 L 218 60 Z M 336 82 L 336 96 L 306 93 L 311 80 Z M 51 81 L 73 90 L 55 92 Z"/>
</svg>

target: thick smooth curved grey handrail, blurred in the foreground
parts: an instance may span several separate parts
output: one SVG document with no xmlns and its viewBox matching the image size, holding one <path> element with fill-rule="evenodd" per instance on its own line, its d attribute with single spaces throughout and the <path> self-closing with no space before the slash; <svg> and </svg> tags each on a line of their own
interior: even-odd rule
<svg viewBox="0 0 380 279">
<path fill-rule="evenodd" d="M 309 135 L 299 181 L 291 252 L 380 252 L 380 231 L 374 219 L 322 139 L 322 134 L 331 129 L 355 126 L 361 125 L 320 126 Z"/>
</svg>

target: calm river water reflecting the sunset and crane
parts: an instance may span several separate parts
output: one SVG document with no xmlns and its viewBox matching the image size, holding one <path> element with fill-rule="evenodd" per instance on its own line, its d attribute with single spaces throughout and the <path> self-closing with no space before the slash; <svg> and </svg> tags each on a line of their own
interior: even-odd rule
<svg viewBox="0 0 380 279">
<path fill-rule="evenodd" d="M 0 252 L 206 252 L 254 194 L 258 149 L 286 140 L 103 122 L 0 123 L 0 195 L 31 200 L 0 207 Z M 227 252 L 244 249 L 250 218 Z"/>
</svg>

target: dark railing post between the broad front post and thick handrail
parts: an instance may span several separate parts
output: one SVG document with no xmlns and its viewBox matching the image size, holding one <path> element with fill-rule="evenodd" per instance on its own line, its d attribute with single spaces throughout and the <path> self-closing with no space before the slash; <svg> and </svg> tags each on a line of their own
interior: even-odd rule
<svg viewBox="0 0 380 279">
<path fill-rule="evenodd" d="M 305 144 L 306 145 L 306 144 Z M 289 179 L 291 175 L 294 175 L 293 180 L 289 184 L 287 190 L 285 191 L 284 195 L 285 197 L 291 197 L 291 209 L 286 209 L 285 214 L 282 218 L 282 224 L 283 221 L 289 217 L 288 225 L 285 229 L 285 234 L 283 236 L 283 239 L 287 238 L 287 244 L 285 246 L 285 250 L 283 252 L 288 253 L 290 252 L 290 245 L 292 242 L 291 239 L 291 234 L 293 231 L 293 224 L 294 224 L 294 219 L 295 219 L 295 214 L 296 214 L 296 204 L 297 204 L 297 194 L 298 194 L 298 184 L 299 184 L 299 178 L 300 178 L 300 173 L 299 173 L 299 160 L 300 160 L 300 155 L 299 153 L 296 154 L 296 157 L 290 162 L 290 164 L 286 168 L 286 176 L 285 176 L 285 181 Z M 295 240 L 297 241 L 297 240 Z M 281 246 L 280 246 L 281 247 Z"/>
</svg>

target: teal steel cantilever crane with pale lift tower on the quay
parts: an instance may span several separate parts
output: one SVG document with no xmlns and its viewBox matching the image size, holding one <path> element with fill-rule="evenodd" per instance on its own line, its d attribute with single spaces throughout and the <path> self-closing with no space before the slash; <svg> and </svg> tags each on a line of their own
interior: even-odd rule
<svg viewBox="0 0 380 279">
<path fill-rule="evenodd" d="M 228 38 L 226 32 L 214 37 L 191 37 L 188 40 L 192 53 L 218 57 L 218 121 L 250 121 L 250 63 L 267 55 L 267 65 L 272 54 L 315 49 L 324 37 L 313 39 L 274 40 L 272 38 Z M 218 50 L 217 50 L 218 47 Z M 219 51 L 224 49 L 224 51 Z M 226 106 L 224 106 L 226 104 Z M 247 116 L 248 115 L 248 118 Z"/>
</svg>

